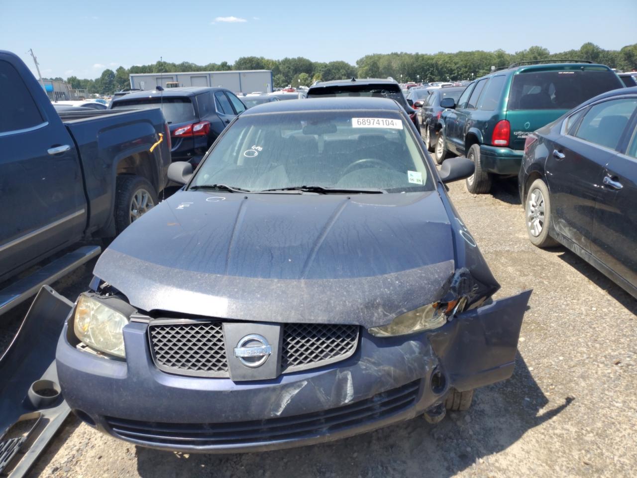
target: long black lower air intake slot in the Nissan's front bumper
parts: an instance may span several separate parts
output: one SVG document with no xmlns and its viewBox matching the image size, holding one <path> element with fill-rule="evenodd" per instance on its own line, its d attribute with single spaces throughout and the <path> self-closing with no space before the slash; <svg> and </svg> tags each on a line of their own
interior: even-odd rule
<svg viewBox="0 0 637 478">
<path fill-rule="evenodd" d="M 372 423 L 412 407 L 419 380 L 371 398 L 322 412 L 227 423 L 156 423 L 106 417 L 111 430 L 122 438 L 170 447 L 222 447 L 263 445 L 336 433 Z"/>
</svg>

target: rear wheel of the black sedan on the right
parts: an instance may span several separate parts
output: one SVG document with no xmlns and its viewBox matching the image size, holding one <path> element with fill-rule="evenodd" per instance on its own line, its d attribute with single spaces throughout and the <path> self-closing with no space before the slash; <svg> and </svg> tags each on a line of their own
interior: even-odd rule
<svg viewBox="0 0 637 478">
<path fill-rule="evenodd" d="M 551 200 L 548 187 L 541 179 L 531 183 L 524 199 L 524 222 L 529 240 L 537 247 L 555 247 L 559 243 L 548 235 Z"/>
</svg>

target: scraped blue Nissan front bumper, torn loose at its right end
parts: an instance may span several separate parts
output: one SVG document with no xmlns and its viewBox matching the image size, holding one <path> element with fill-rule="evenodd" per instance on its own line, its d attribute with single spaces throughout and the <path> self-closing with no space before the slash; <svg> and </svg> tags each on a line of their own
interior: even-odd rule
<svg viewBox="0 0 637 478">
<path fill-rule="evenodd" d="M 315 444 L 415 417 L 440 404 L 450 387 L 510 377 L 530 294 L 469 310 L 427 333 L 376 338 L 362 331 L 350 358 L 271 380 L 161 372 L 140 322 L 124 328 L 126 361 L 76 349 L 65 328 L 57 371 L 78 416 L 134 444 L 207 453 Z"/>
</svg>

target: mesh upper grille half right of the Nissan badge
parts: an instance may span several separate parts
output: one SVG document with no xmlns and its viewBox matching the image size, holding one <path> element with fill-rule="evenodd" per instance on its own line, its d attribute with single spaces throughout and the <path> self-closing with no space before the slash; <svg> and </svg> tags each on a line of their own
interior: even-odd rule
<svg viewBox="0 0 637 478">
<path fill-rule="evenodd" d="M 281 370 L 294 372 L 351 356 L 358 342 L 358 326 L 284 324 Z"/>
</svg>

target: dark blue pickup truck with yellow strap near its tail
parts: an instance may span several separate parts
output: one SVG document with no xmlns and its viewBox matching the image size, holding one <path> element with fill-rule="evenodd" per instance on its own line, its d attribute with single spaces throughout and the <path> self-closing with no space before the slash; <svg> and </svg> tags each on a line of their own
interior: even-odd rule
<svg viewBox="0 0 637 478">
<path fill-rule="evenodd" d="M 99 254 L 71 246 L 114 237 L 156 205 L 171 156 L 160 110 L 55 112 L 24 62 L 2 50 L 0 111 L 2 314 Z"/>
</svg>

